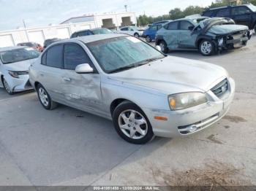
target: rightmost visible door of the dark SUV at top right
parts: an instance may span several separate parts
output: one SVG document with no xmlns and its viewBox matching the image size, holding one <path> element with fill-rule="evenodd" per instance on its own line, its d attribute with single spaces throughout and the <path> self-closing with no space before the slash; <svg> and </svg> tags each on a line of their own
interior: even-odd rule
<svg viewBox="0 0 256 191">
<path fill-rule="evenodd" d="M 231 18 L 236 24 L 250 26 L 252 20 L 251 10 L 248 7 L 233 7 L 231 8 Z"/>
</svg>

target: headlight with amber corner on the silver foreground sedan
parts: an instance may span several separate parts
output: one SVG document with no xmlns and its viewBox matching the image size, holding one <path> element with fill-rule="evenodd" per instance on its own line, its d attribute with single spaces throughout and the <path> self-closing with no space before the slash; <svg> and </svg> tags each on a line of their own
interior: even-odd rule
<svg viewBox="0 0 256 191">
<path fill-rule="evenodd" d="M 199 92 L 177 93 L 168 96 L 171 110 L 186 109 L 207 102 L 206 95 Z"/>
</svg>

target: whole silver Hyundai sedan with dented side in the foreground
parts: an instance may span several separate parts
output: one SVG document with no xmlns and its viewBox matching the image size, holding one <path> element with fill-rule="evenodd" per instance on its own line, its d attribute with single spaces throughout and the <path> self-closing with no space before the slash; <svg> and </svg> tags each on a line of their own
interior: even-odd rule
<svg viewBox="0 0 256 191">
<path fill-rule="evenodd" d="M 123 34 L 56 42 L 29 69 L 45 109 L 57 103 L 113 120 L 133 144 L 187 136 L 229 109 L 235 82 L 210 63 L 167 56 Z"/>
</svg>

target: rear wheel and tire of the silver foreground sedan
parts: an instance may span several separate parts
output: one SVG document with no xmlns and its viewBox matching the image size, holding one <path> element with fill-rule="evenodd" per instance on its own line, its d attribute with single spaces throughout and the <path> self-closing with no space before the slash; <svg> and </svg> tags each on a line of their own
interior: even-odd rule
<svg viewBox="0 0 256 191">
<path fill-rule="evenodd" d="M 42 85 L 37 85 L 37 95 L 42 106 L 47 110 L 55 109 L 58 104 L 50 98 L 50 95 Z"/>
</svg>

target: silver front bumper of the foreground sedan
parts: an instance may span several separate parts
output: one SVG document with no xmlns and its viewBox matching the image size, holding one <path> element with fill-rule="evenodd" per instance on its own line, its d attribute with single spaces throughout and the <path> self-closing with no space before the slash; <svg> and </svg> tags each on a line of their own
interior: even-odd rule
<svg viewBox="0 0 256 191">
<path fill-rule="evenodd" d="M 229 78 L 228 83 L 229 88 L 221 98 L 209 90 L 207 95 L 212 98 L 212 101 L 206 104 L 178 111 L 143 109 L 151 122 L 154 134 L 163 137 L 186 136 L 216 123 L 228 112 L 233 101 L 235 82 Z M 155 116 L 167 117 L 167 120 L 155 120 Z M 195 128 L 195 130 L 189 132 L 189 128 Z"/>
</svg>

